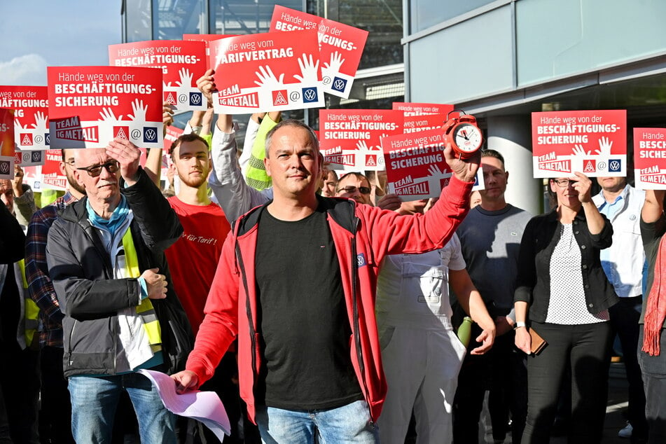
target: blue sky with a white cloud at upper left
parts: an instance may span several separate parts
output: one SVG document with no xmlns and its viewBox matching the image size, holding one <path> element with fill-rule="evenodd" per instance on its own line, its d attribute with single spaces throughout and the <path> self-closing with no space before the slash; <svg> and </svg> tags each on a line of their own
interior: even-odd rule
<svg viewBox="0 0 666 444">
<path fill-rule="evenodd" d="M 132 0 L 129 0 L 132 1 Z M 46 86 L 46 67 L 108 65 L 121 0 L 0 0 L 0 85 Z"/>
</svg>

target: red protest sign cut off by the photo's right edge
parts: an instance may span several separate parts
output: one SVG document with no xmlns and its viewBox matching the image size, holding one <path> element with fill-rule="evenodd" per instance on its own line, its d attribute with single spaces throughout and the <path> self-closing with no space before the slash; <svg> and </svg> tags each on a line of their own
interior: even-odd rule
<svg viewBox="0 0 666 444">
<path fill-rule="evenodd" d="M 634 128 L 636 188 L 666 190 L 666 129 Z"/>
</svg>

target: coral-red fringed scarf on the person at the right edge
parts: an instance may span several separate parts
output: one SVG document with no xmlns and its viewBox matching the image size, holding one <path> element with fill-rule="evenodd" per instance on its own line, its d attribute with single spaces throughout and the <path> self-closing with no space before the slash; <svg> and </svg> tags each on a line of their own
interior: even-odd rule
<svg viewBox="0 0 666 444">
<path fill-rule="evenodd" d="M 661 329 L 666 319 L 666 235 L 659 241 L 657 259 L 654 265 L 652 288 L 645 308 L 643 351 L 650 356 L 658 356 L 660 352 Z"/>
</svg>

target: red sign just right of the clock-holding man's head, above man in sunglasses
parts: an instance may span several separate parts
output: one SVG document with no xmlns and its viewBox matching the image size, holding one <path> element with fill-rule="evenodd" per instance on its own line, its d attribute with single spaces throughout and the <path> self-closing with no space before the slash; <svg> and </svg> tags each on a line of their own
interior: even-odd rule
<svg viewBox="0 0 666 444">
<path fill-rule="evenodd" d="M 331 169 L 382 171 L 381 137 L 403 133 L 402 111 L 322 109 L 320 148 Z"/>
</svg>

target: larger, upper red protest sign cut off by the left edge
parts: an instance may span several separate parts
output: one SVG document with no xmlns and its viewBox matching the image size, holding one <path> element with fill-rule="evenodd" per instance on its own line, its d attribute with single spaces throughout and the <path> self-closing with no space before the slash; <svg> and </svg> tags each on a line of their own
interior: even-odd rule
<svg viewBox="0 0 666 444">
<path fill-rule="evenodd" d="M 14 141 L 23 151 L 48 148 L 46 86 L 0 86 L 0 108 L 14 112 Z"/>
</svg>

